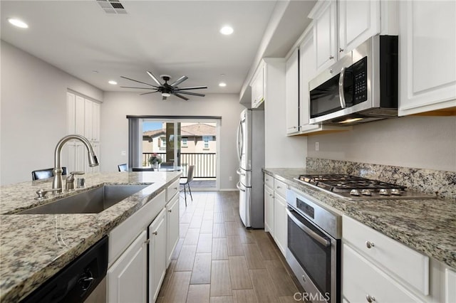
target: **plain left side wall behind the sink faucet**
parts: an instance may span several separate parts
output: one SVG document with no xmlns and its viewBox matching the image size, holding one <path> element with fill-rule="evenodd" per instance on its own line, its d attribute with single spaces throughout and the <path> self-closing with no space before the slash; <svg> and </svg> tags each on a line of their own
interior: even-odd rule
<svg viewBox="0 0 456 303">
<path fill-rule="evenodd" d="M 66 135 L 68 88 L 103 100 L 96 87 L 1 41 L 1 185 L 53 167 L 56 144 Z"/>
</svg>

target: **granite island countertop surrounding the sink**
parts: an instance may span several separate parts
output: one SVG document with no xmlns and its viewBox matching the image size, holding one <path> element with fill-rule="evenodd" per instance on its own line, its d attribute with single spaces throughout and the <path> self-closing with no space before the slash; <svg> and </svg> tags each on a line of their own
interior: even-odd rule
<svg viewBox="0 0 456 303">
<path fill-rule="evenodd" d="M 0 187 L 0 301 L 18 302 L 76 259 L 110 230 L 179 179 L 180 172 L 115 172 L 85 175 L 86 187 L 36 201 L 52 179 Z M 20 215 L 26 208 L 103 184 L 150 184 L 100 213 Z M 49 193 L 48 193 L 49 195 Z"/>
</svg>

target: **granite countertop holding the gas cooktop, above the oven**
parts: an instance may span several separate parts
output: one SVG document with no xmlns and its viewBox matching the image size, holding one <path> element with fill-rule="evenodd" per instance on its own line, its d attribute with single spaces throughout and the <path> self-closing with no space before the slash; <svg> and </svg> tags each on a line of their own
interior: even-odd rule
<svg viewBox="0 0 456 303">
<path fill-rule="evenodd" d="M 318 174 L 306 169 L 263 169 L 321 201 L 410 248 L 456 269 L 456 203 L 437 199 L 356 200 L 338 198 L 294 180 L 300 174 Z"/>
</svg>

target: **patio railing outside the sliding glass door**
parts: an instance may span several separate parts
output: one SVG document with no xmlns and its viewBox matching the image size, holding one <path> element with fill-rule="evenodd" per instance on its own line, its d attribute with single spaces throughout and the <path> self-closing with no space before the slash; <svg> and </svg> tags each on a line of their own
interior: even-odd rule
<svg viewBox="0 0 456 303">
<path fill-rule="evenodd" d="M 157 154 L 162 158 L 163 162 L 166 162 L 166 153 L 142 153 L 142 165 L 147 166 L 149 164 L 149 158 L 152 154 Z M 182 166 L 182 176 L 187 176 L 187 167 L 195 165 L 193 171 L 193 178 L 215 178 L 217 161 L 215 157 L 216 153 L 181 153 L 180 154 L 180 166 Z"/>
</svg>

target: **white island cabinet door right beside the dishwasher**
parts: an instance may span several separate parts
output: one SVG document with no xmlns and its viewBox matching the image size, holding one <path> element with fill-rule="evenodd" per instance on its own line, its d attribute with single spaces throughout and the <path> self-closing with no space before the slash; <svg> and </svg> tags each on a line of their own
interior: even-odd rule
<svg viewBox="0 0 456 303">
<path fill-rule="evenodd" d="M 144 230 L 109 268 L 106 274 L 106 302 L 146 302 L 146 241 L 147 233 Z"/>
</svg>

